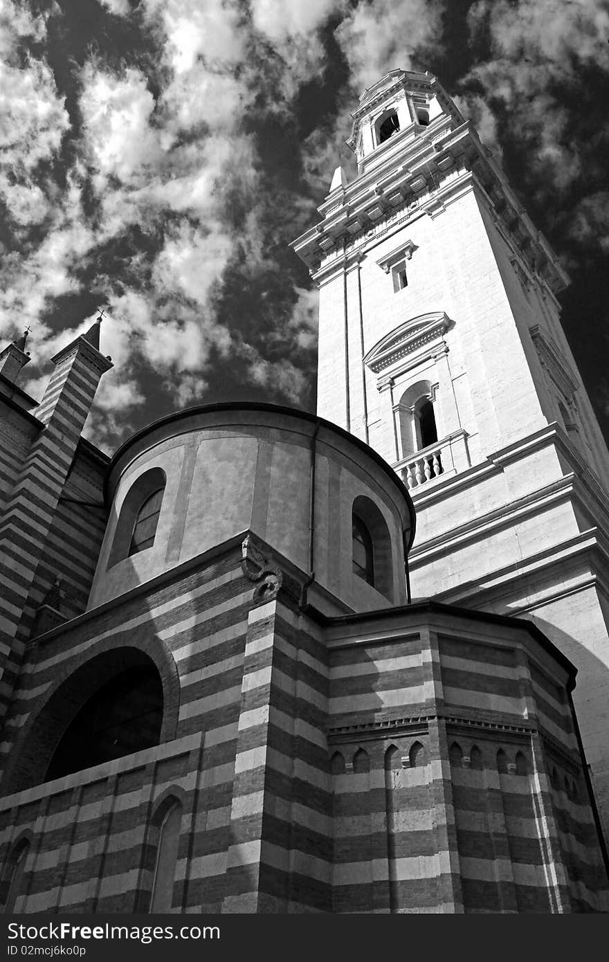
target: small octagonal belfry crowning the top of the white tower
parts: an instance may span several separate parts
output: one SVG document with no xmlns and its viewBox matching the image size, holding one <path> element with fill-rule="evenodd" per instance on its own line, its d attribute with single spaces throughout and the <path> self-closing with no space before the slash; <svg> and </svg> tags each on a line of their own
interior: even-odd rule
<svg viewBox="0 0 609 962">
<path fill-rule="evenodd" d="M 360 173 L 385 161 L 440 117 L 464 122 L 433 74 L 390 70 L 360 95 L 347 146 L 354 151 Z"/>
</svg>

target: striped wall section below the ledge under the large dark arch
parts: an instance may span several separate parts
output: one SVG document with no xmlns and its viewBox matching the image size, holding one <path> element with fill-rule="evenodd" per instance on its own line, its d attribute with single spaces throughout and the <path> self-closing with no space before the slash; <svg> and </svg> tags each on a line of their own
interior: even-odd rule
<svg viewBox="0 0 609 962">
<path fill-rule="evenodd" d="M 199 780 L 201 735 L 192 735 L 0 801 L 4 862 L 21 837 L 31 840 L 15 911 L 146 911 L 157 806 L 167 796 L 183 811 L 174 902 L 186 903 L 189 837 Z"/>
</svg>

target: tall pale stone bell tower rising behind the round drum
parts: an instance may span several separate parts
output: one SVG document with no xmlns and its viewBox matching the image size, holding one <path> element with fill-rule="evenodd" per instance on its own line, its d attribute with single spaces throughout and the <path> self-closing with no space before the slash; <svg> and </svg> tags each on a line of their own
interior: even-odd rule
<svg viewBox="0 0 609 962">
<path fill-rule="evenodd" d="M 356 178 L 335 172 L 292 244 L 319 289 L 318 414 L 408 485 L 414 597 L 534 620 L 578 667 L 609 830 L 609 454 L 560 324 L 569 278 L 431 74 L 365 90 L 347 143 Z"/>
</svg>

